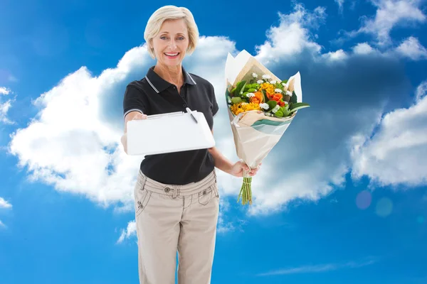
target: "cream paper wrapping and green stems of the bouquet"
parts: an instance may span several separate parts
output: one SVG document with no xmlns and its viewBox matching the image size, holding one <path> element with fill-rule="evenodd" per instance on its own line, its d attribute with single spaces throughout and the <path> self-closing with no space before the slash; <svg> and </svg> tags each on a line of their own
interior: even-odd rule
<svg viewBox="0 0 427 284">
<path fill-rule="evenodd" d="M 251 80 L 253 72 L 260 76 L 270 75 L 270 80 L 281 82 L 278 77 L 258 62 L 258 60 L 255 60 L 246 50 L 239 53 L 236 58 L 233 58 L 233 56 L 228 53 L 225 67 L 225 98 L 228 103 L 231 89 L 236 87 L 239 81 Z M 297 72 L 297 74 L 288 79 L 285 88 L 290 92 L 295 92 L 297 102 L 302 102 L 300 72 Z M 294 111 L 290 116 L 278 118 L 266 115 L 264 111 L 253 110 L 234 115 L 228 107 L 228 117 L 230 119 L 231 130 L 233 131 L 234 144 L 236 146 L 238 158 L 250 168 L 257 168 L 280 141 L 280 138 L 288 129 L 296 114 L 297 111 Z M 245 193 L 242 191 L 246 190 L 246 201 L 243 202 L 243 204 L 246 204 L 246 202 L 252 204 L 251 178 L 248 178 L 247 174 L 243 175 L 243 178 L 241 195 L 244 195 Z M 239 195 L 239 198 L 241 195 Z"/>
</svg>

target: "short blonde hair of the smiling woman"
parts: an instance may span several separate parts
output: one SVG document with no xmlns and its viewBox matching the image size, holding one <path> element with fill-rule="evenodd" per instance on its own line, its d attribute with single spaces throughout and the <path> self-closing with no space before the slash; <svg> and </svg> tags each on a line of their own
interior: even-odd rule
<svg viewBox="0 0 427 284">
<path fill-rule="evenodd" d="M 189 33 L 189 47 L 186 52 L 191 54 L 196 49 L 199 40 L 199 28 L 197 28 L 194 16 L 190 10 L 185 7 L 172 5 L 163 6 L 157 9 L 157 11 L 154 11 L 152 16 L 149 17 L 144 31 L 144 40 L 147 42 L 148 53 L 153 59 L 156 58 L 156 55 L 152 48 L 152 38 L 159 33 L 164 21 L 176 20 L 179 18 L 184 19 Z"/>
</svg>

